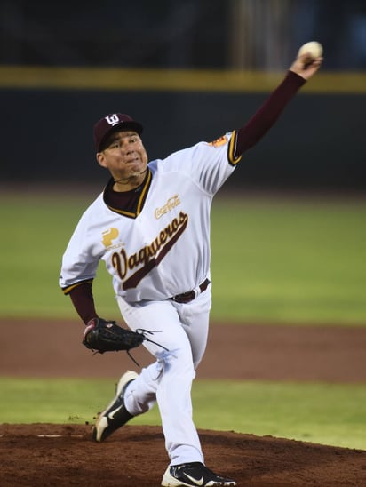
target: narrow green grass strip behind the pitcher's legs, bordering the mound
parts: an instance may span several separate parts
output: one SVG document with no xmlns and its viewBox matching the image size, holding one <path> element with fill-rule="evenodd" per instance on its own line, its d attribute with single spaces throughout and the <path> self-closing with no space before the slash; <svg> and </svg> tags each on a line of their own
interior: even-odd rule
<svg viewBox="0 0 366 487">
<path fill-rule="evenodd" d="M 0 378 L 0 387 L 3 423 L 93 424 L 115 383 Z M 198 428 L 366 450 L 363 385 L 197 380 L 192 396 Z M 157 407 L 130 424 L 161 425 Z"/>
</svg>

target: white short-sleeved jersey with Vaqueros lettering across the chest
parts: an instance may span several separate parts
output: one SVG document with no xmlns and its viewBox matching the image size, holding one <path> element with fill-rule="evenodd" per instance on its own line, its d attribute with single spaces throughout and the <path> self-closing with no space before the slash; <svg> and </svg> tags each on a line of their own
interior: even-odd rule
<svg viewBox="0 0 366 487">
<path fill-rule="evenodd" d="M 65 294 L 91 281 L 100 259 L 115 293 L 130 302 L 168 299 L 202 283 L 210 275 L 212 196 L 240 159 L 234 157 L 234 134 L 147 164 L 142 208 L 133 218 L 109 208 L 99 195 L 64 253 Z"/>
</svg>

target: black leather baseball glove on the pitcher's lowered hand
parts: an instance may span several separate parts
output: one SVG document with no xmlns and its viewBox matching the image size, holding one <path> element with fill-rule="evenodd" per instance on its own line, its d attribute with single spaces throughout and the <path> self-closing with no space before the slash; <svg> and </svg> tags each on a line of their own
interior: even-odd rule
<svg viewBox="0 0 366 487">
<path fill-rule="evenodd" d="M 92 318 L 84 330 L 83 345 L 99 354 L 136 348 L 147 339 L 142 332 L 122 328 L 114 321 Z"/>
</svg>

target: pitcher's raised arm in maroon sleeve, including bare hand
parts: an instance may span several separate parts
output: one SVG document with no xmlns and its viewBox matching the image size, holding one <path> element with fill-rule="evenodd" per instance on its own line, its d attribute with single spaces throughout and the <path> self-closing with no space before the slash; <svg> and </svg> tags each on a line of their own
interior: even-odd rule
<svg viewBox="0 0 366 487">
<path fill-rule="evenodd" d="M 322 65 L 322 56 L 312 56 L 311 52 L 298 52 L 296 60 L 282 83 L 270 94 L 249 122 L 235 132 L 235 157 L 240 157 L 254 146 L 275 124 L 283 109 Z"/>
</svg>

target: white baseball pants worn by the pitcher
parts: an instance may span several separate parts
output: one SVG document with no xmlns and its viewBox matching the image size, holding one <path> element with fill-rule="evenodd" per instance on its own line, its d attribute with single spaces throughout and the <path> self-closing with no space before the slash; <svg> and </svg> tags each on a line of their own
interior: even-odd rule
<svg viewBox="0 0 366 487">
<path fill-rule="evenodd" d="M 144 342 L 156 361 L 142 369 L 139 377 L 127 387 L 125 407 L 137 416 L 151 409 L 156 402 L 171 465 L 193 461 L 204 463 L 192 419 L 191 387 L 207 344 L 211 284 L 187 304 L 171 299 L 129 304 L 119 296 L 117 302 L 131 330 L 153 331 L 147 336 L 169 350 Z"/>
</svg>

